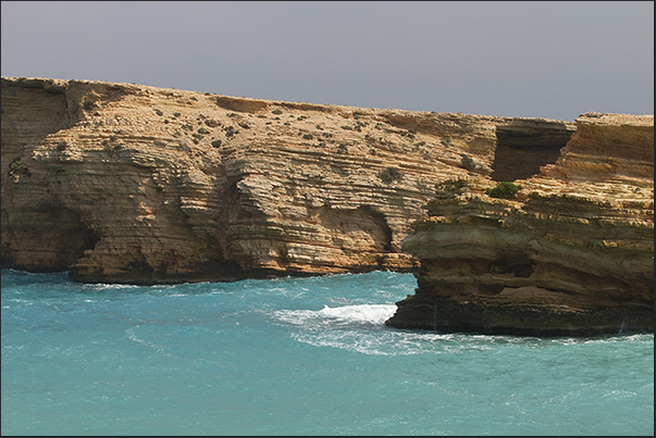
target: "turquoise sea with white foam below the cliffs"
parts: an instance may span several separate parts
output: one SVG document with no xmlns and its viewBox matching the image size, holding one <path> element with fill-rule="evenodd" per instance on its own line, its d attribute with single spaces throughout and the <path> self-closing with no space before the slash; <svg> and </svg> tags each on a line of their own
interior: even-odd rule
<svg viewBox="0 0 656 438">
<path fill-rule="evenodd" d="M 411 274 L 2 270 L 2 435 L 654 435 L 654 335 L 387 327 Z"/>
</svg>

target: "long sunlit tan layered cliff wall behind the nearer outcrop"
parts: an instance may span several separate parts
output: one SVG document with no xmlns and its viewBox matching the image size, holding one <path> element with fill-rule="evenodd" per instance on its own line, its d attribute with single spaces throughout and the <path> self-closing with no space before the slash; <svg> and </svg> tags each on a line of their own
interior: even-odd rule
<svg viewBox="0 0 656 438">
<path fill-rule="evenodd" d="M 131 84 L 1 89 L 2 267 L 81 281 L 409 272 L 400 242 L 436 182 L 528 178 L 574 130 Z"/>
</svg>

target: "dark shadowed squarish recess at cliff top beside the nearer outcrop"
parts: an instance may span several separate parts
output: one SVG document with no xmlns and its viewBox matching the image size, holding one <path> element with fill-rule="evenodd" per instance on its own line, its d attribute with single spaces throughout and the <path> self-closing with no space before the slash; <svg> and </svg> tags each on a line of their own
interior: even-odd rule
<svg viewBox="0 0 656 438">
<path fill-rule="evenodd" d="M 517 121 L 497 126 L 492 179 L 512 182 L 539 174 L 541 166 L 556 162 L 572 133 L 565 123 Z"/>
</svg>

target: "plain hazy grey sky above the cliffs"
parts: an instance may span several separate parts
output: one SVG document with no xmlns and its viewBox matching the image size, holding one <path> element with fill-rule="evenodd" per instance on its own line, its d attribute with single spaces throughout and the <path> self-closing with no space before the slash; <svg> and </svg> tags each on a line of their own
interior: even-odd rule
<svg viewBox="0 0 656 438">
<path fill-rule="evenodd" d="M 573 121 L 654 114 L 653 1 L 2 1 L 2 76 Z"/>
</svg>

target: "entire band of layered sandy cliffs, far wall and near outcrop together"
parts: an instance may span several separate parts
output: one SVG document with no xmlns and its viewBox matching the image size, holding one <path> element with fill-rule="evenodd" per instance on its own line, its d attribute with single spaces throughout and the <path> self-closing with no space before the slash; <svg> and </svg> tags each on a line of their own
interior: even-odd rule
<svg viewBox="0 0 656 438">
<path fill-rule="evenodd" d="M 3 268 L 128 284 L 416 272 L 391 325 L 653 330 L 653 115 L 1 89 Z M 491 197 L 498 182 L 516 197 Z"/>
</svg>

